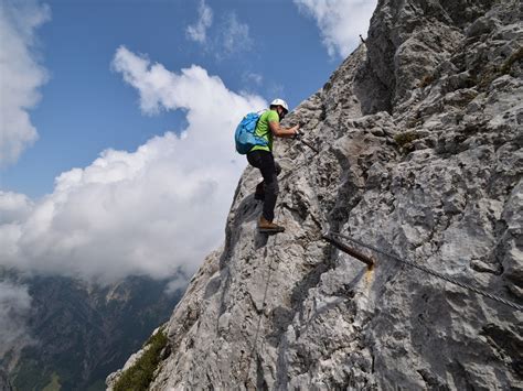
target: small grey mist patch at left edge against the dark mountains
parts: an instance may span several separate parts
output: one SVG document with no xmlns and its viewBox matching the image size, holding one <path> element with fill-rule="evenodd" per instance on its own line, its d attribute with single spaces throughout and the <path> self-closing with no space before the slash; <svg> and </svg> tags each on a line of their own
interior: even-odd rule
<svg viewBox="0 0 523 391">
<path fill-rule="evenodd" d="M 32 343 L 26 330 L 30 311 L 28 287 L 0 281 L 0 357 Z"/>
</svg>

